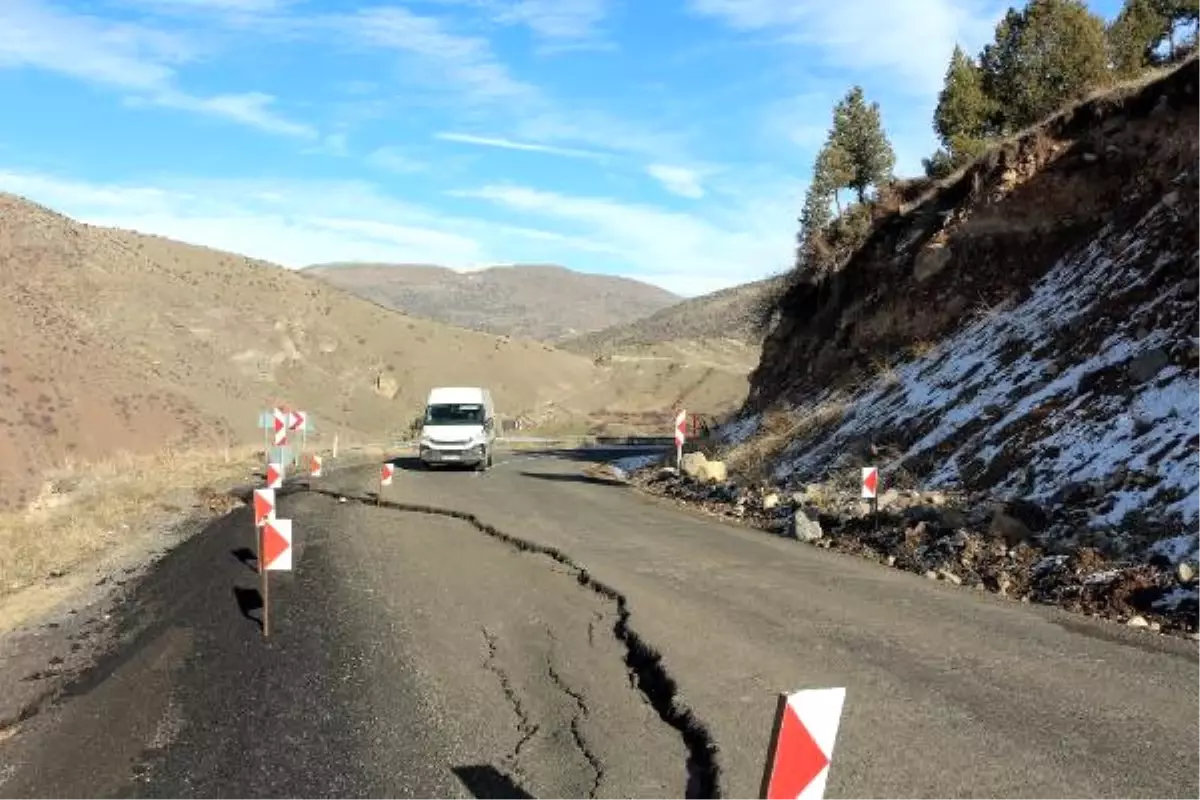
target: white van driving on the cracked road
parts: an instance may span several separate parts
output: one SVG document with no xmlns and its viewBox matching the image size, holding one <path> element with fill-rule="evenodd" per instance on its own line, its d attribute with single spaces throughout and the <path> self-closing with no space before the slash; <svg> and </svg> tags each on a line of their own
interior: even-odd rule
<svg viewBox="0 0 1200 800">
<path fill-rule="evenodd" d="M 421 426 L 421 465 L 492 465 L 496 408 L 492 393 L 478 386 L 438 386 L 430 391 Z"/>
</svg>

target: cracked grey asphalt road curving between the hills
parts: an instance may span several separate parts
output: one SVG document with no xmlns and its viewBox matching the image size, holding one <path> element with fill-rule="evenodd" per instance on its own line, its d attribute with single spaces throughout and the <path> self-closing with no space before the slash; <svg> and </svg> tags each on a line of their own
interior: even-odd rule
<svg viewBox="0 0 1200 800">
<path fill-rule="evenodd" d="M 0 798 L 754 798 L 775 693 L 845 686 L 827 798 L 1196 798 L 1200 648 L 678 511 L 571 457 L 248 510 L 0 742 Z M 340 498 L 347 498 L 340 501 Z M 470 518 L 462 518 L 468 516 Z M 240 553 L 250 558 L 247 553 Z"/>
</svg>

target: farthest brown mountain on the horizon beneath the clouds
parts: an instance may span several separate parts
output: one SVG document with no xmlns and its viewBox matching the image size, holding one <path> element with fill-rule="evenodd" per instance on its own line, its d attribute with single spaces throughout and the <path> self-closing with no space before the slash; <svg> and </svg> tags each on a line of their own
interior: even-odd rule
<svg viewBox="0 0 1200 800">
<path fill-rule="evenodd" d="M 628 323 L 679 301 L 648 283 L 551 265 L 456 272 L 415 264 L 324 264 L 302 273 L 406 314 L 538 341 Z"/>
</svg>

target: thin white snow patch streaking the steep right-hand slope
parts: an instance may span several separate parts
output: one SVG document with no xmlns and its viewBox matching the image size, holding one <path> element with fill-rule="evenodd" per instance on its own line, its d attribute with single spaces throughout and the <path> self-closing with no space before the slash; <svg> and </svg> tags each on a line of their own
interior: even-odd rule
<svg viewBox="0 0 1200 800">
<path fill-rule="evenodd" d="M 1156 206 L 1120 235 L 1104 229 L 1062 258 L 1019 306 L 977 319 L 925 357 L 865 386 L 840 422 L 790 444 L 776 476 L 817 479 L 852 441 L 904 441 L 917 429 L 920 435 L 899 457 L 880 464 L 884 481 L 896 467 L 931 453 L 935 463 L 923 476 L 928 488 L 955 488 L 994 467 L 996 494 L 1034 500 L 1070 482 L 1139 471 L 1153 480 L 1114 487 L 1111 507 L 1093 525 L 1120 524 L 1148 506 L 1186 525 L 1200 523 L 1200 449 L 1189 445 L 1200 420 L 1200 374 L 1166 365 L 1152 381 L 1138 384 L 1128 372 L 1139 356 L 1187 338 L 1178 324 L 1136 331 L 1136 320 L 1160 319 L 1178 300 L 1177 290 L 1142 291 L 1145 300 L 1130 294 L 1177 258 L 1148 243 L 1169 241 L 1172 223 L 1162 210 Z M 1135 305 L 1120 319 L 1097 321 L 1100 301 L 1127 296 Z M 1097 331 L 1098 324 L 1106 329 Z M 1115 391 L 1106 385 L 1114 381 Z M 804 407 L 829 398 L 821 392 Z M 731 433 L 739 440 L 756 427 L 737 425 Z M 996 464 L 1001 457 L 1014 467 Z"/>
</svg>

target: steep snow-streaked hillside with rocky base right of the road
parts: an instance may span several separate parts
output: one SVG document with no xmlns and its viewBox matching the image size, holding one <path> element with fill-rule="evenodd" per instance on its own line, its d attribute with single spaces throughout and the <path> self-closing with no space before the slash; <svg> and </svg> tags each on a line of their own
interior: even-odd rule
<svg viewBox="0 0 1200 800">
<path fill-rule="evenodd" d="M 734 483 L 659 488 L 935 579 L 1200 636 L 1198 163 L 1196 60 L 995 146 L 781 296 L 710 451 Z M 880 522 L 863 465 L 880 468 Z"/>
</svg>

